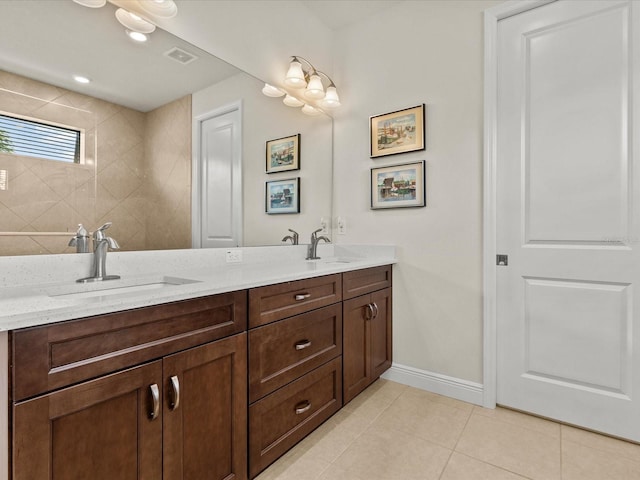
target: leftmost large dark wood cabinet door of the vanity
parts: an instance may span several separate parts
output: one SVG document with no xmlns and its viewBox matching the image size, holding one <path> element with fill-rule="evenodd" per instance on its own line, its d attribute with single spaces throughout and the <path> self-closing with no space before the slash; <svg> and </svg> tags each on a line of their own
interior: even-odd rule
<svg viewBox="0 0 640 480">
<path fill-rule="evenodd" d="M 161 382 L 156 361 L 16 404 L 13 479 L 160 480 Z"/>
</svg>

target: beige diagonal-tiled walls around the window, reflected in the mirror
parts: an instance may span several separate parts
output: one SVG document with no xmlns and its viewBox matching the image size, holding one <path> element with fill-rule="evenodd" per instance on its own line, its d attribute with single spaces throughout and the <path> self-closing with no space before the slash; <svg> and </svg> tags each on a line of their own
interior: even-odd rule
<svg viewBox="0 0 640 480">
<path fill-rule="evenodd" d="M 0 232 L 69 232 L 0 236 L 0 255 L 72 252 L 79 223 L 113 222 L 122 250 L 190 246 L 190 104 L 185 97 L 144 114 L 0 71 L 0 110 L 82 128 L 86 138 L 83 165 L 0 154 L 9 179 Z M 158 233 L 159 212 L 168 213 L 164 231 L 179 235 Z"/>
</svg>

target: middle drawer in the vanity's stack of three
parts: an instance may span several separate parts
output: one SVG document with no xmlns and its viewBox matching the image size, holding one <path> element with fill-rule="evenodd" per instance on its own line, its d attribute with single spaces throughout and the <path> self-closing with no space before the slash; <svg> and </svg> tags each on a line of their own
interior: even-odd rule
<svg viewBox="0 0 640 480">
<path fill-rule="evenodd" d="M 342 354 L 342 305 L 249 331 L 249 402 Z"/>
</svg>

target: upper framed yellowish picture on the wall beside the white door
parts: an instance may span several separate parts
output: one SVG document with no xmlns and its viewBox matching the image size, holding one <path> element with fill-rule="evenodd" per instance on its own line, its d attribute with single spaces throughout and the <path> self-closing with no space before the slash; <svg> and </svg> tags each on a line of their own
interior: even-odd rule
<svg viewBox="0 0 640 480">
<path fill-rule="evenodd" d="M 424 103 L 369 118 L 371 158 L 424 150 Z"/>
</svg>

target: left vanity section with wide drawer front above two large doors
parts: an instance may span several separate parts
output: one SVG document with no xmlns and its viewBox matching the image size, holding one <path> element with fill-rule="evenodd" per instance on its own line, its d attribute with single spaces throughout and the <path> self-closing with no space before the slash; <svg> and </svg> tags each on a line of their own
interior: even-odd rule
<svg viewBox="0 0 640 480">
<path fill-rule="evenodd" d="M 14 332 L 12 480 L 247 478 L 246 292 L 179 303 Z"/>
</svg>

